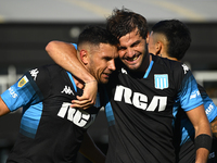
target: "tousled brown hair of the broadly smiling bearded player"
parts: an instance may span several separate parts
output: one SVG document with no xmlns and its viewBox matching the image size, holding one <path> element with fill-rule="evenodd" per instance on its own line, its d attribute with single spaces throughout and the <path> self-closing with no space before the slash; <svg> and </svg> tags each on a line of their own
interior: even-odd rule
<svg viewBox="0 0 217 163">
<path fill-rule="evenodd" d="M 113 10 L 112 15 L 106 18 L 106 28 L 117 39 L 133 32 L 136 28 L 138 28 L 138 33 L 142 38 L 146 38 L 149 32 L 146 20 L 126 8 Z"/>
</svg>

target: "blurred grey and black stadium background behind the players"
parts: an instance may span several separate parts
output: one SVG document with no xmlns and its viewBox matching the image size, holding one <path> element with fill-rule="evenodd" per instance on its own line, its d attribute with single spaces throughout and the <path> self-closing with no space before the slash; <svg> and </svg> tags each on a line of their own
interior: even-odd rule
<svg viewBox="0 0 217 163">
<path fill-rule="evenodd" d="M 0 93 L 27 70 L 53 63 L 44 51 L 51 40 L 76 42 L 86 25 L 104 26 L 114 8 L 128 8 L 146 17 L 150 28 L 161 21 L 183 21 L 192 34 L 186 62 L 217 104 L 217 0 L 0 0 Z M 20 109 L 0 117 L 0 163 L 18 133 Z M 106 152 L 104 112 L 89 129 Z M 77 162 L 88 163 L 81 155 Z"/>
</svg>

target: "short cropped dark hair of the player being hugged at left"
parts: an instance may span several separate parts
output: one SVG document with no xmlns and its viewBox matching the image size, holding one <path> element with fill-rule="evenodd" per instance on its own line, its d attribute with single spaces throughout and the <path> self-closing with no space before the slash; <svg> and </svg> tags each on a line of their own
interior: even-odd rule
<svg viewBox="0 0 217 163">
<path fill-rule="evenodd" d="M 100 43 L 108 43 L 117 46 L 118 40 L 110 32 L 100 26 L 87 26 L 79 35 L 77 45 L 91 43 L 99 46 Z"/>
</svg>

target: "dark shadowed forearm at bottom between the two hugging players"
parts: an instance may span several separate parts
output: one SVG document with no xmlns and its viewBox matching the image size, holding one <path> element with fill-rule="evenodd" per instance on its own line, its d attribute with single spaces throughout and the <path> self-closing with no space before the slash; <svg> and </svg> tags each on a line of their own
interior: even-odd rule
<svg viewBox="0 0 217 163">
<path fill-rule="evenodd" d="M 79 152 L 93 163 L 105 162 L 104 153 L 97 147 L 88 133 L 84 137 Z"/>
</svg>

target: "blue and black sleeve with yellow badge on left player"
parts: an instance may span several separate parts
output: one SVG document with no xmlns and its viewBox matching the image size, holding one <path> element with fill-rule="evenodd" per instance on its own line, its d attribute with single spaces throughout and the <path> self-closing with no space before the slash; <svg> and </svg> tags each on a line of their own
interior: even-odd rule
<svg viewBox="0 0 217 163">
<path fill-rule="evenodd" d="M 39 68 L 30 70 L 1 95 L 10 111 L 38 103 L 48 96 L 47 90 L 41 91 L 42 88 L 49 88 L 47 84 L 48 74 L 44 70 L 41 70 L 41 72 L 43 73 L 39 73 Z"/>
</svg>

